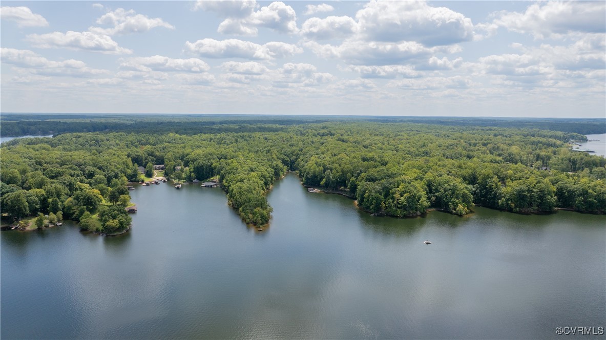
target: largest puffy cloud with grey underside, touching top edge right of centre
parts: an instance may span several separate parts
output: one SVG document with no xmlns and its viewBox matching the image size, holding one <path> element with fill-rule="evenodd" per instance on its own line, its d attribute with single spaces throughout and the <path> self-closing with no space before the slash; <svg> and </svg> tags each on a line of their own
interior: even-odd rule
<svg viewBox="0 0 606 340">
<path fill-rule="evenodd" d="M 370 41 L 437 46 L 473 39 L 471 19 L 424 1 L 371 1 L 356 13 L 356 19 L 360 34 Z"/>
</svg>

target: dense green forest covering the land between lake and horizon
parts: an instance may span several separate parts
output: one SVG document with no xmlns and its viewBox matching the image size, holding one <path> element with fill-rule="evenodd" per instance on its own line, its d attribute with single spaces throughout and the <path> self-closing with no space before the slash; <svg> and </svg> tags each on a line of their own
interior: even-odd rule
<svg viewBox="0 0 606 340">
<path fill-rule="evenodd" d="M 218 178 L 228 204 L 258 226 L 271 219 L 265 195 L 288 171 L 305 185 L 346 193 L 369 213 L 400 218 L 430 208 L 465 215 L 474 205 L 514 213 L 606 208 L 606 159 L 571 150 L 570 141 L 586 138 L 570 127 L 330 119 L 196 125 L 202 123 L 147 122 L 146 130 L 136 122 L 132 130 L 5 142 L 2 213 L 15 220 L 61 213 L 89 230 L 122 230 L 130 224 L 126 185 L 139 181 L 139 165 L 150 164 L 164 164 L 177 181 Z"/>
</svg>

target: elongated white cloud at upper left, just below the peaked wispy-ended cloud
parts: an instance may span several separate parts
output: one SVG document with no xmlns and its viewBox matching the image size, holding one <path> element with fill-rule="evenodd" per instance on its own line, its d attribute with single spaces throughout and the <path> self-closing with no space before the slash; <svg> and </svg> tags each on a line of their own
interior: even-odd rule
<svg viewBox="0 0 606 340">
<path fill-rule="evenodd" d="M 43 35 L 32 34 L 26 36 L 25 40 L 38 48 L 65 47 L 73 50 L 87 50 L 113 55 L 133 53 L 128 48 L 119 47 L 118 43 L 113 41 L 110 36 L 92 32 L 68 31 L 67 33 L 53 32 Z"/>
</svg>

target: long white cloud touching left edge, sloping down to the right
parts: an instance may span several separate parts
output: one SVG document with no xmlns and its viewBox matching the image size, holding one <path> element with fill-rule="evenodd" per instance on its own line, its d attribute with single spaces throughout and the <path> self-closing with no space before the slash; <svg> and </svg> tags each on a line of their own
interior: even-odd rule
<svg viewBox="0 0 606 340">
<path fill-rule="evenodd" d="M 36 75 L 90 77 L 107 73 L 106 70 L 87 67 L 83 61 L 75 59 L 50 61 L 30 50 L 2 47 L 1 55 L 2 62 L 25 68 Z"/>
</svg>

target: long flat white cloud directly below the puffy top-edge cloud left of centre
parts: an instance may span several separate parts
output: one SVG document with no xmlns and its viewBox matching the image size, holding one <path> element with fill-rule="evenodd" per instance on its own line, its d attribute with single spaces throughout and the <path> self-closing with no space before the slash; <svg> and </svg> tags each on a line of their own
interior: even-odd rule
<svg viewBox="0 0 606 340">
<path fill-rule="evenodd" d="M 267 60 L 286 58 L 303 50 L 296 45 L 285 42 L 268 42 L 264 45 L 239 39 L 201 39 L 196 42 L 185 42 L 185 50 L 207 58 L 243 58 Z"/>
</svg>

